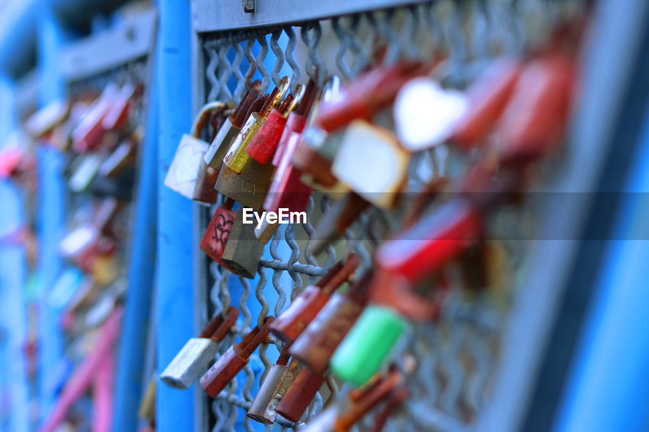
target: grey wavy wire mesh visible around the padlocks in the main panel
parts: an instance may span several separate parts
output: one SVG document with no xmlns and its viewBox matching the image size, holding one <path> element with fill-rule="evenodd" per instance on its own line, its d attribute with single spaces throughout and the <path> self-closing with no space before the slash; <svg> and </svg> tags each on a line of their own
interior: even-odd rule
<svg viewBox="0 0 649 432">
<path fill-rule="evenodd" d="M 446 85 L 464 88 L 490 60 L 520 54 L 524 46 L 548 31 L 557 16 L 570 13 L 576 5 L 580 3 L 437 1 L 322 21 L 202 35 L 208 83 L 206 101 L 238 102 L 243 89 L 254 78 L 263 80 L 265 91 L 271 83 L 279 84 L 282 71 L 283 75 L 292 76 L 293 85 L 308 78 L 321 85 L 332 74 L 343 81 L 350 80 L 378 62 L 432 58 L 438 51 L 448 53 L 447 64 L 438 78 Z M 275 63 L 269 71 L 266 65 L 272 64 L 273 56 Z M 392 126 L 389 114 L 380 114 L 375 122 Z M 456 177 L 461 174 L 458 167 L 464 163 L 463 156 L 445 145 L 424 150 L 415 155 L 410 165 L 408 189 L 417 190 L 434 174 Z M 258 277 L 253 282 L 240 278 L 243 292 L 237 306 L 243 322 L 234 328 L 233 335 L 247 333 L 263 322 L 266 315 L 279 315 L 304 286 L 350 252 L 360 254 L 361 266 L 371 266 L 374 248 L 398 222 L 380 210 L 367 210 L 339 244 L 329 245 L 322 256 L 316 257 L 305 252 L 304 246 L 312 239 L 313 226 L 322 211 L 329 206 L 329 197 L 314 193 L 306 223 L 289 224 L 285 230 L 278 230 L 267 244 L 270 258 L 260 261 Z M 490 247 L 496 250 L 495 256 L 502 258 L 491 266 L 495 286 L 483 293 L 469 292 L 461 286 L 458 269 L 449 270 L 450 291 L 441 317 L 436 322 L 413 325 L 400 344 L 400 354 L 417 359 L 417 368 L 408 378 L 411 398 L 391 416 L 387 430 L 468 429 L 484 409 L 495 378 L 511 296 L 518 285 L 517 274 L 524 267 L 525 246 L 507 239 L 512 238 L 511 232 L 524 238 L 525 230 L 534 225 L 534 218 L 523 208 L 518 213 L 500 214 L 490 224 L 494 239 Z M 504 232 L 508 234 L 498 239 L 498 233 Z M 214 280 L 210 287 L 210 310 L 213 307 L 215 311 L 224 311 L 232 303 L 228 278 L 236 276 L 214 262 L 210 263 L 210 274 Z M 288 274 L 291 286 L 282 282 L 283 274 Z M 267 298 L 269 290 L 276 293 L 274 304 Z M 253 302 L 260 307 L 257 317 L 251 315 Z M 233 341 L 221 345 L 221 354 Z M 281 351 L 280 342 L 275 343 Z M 262 378 L 271 365 L 267 348 L 263 344 L 258 353 L 264 368 Z M 246 430 L 255 429 L 245 411 L 252 402 L 256 375 L 251 365 L 244 370 L 245 385 L 234 380 L 212 402 L 212 431 L 235 430 L 241 419 Z M 308 424 L 330 397 L 336 398 L 339 384 L 331 377 L 327 382 L 330 396 L 319 392 L 300 422 L 293 424 L 279 417 L 267 430 L 297 429 Z M 371 427 L 372 417 L 366 416 L 355 428 Z"/>
</svg>

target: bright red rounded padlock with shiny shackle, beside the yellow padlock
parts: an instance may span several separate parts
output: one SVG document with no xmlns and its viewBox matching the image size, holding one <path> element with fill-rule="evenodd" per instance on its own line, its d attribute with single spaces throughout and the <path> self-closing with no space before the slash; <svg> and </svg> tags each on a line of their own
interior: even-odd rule
<svg viewBox="0 0 649 432">
<path fill-rule="evenodd" d="M 298 84 L 295 97 L 284 112 L 277 108 L 271 110 L 245 149 L 252 159 L 262 164 L 270 160 L 280 143 L 289 114 L 300 104 L 305 91 L 304 85 Z"/>
</svg>

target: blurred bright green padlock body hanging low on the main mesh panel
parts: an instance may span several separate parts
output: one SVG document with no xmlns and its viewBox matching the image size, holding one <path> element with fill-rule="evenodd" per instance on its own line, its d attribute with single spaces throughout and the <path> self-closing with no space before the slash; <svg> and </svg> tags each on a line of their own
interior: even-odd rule
<svg viewBox="0 0 649 432">
<path fill-rule="evenodd" d="M 386 362 L 408 320 L 389 307 L 369 305 L 331 359 L 330 367 L 343 381 L 359 386 Z"/>
</svg>

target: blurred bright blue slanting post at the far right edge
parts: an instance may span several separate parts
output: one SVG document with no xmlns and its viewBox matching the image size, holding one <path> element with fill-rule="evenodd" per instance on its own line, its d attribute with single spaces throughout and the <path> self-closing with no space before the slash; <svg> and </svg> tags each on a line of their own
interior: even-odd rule
<svg viewBox="0 0 649 432">
<path fill-rule="evenodd" d="M 649 430 L 649 110 L 557 431 Z"/>
</svg>

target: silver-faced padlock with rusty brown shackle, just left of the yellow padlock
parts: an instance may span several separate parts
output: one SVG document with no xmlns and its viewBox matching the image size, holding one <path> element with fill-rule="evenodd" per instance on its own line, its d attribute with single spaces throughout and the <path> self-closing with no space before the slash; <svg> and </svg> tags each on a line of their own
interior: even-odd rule
<svg viewBox="0 0 649 432">
<path fill-rule="evenodd" d="M 261 80 L 252 82 L 252 86 L 247 93 L 241 97 L 239 105 L 234 110 L 234 113 L 225 119 L 216 137 L 212 140 L 210 148 L 205 153 L 205 163 L 214 169 L 219 169 L 226 152 L 232 144 L 232 140 L 236 138 L 241 130 L 241 126 L 246 120 L 246 115 L 251 105 L 259 97 L 259 88 L 262 85 Z"/>
</svg>

